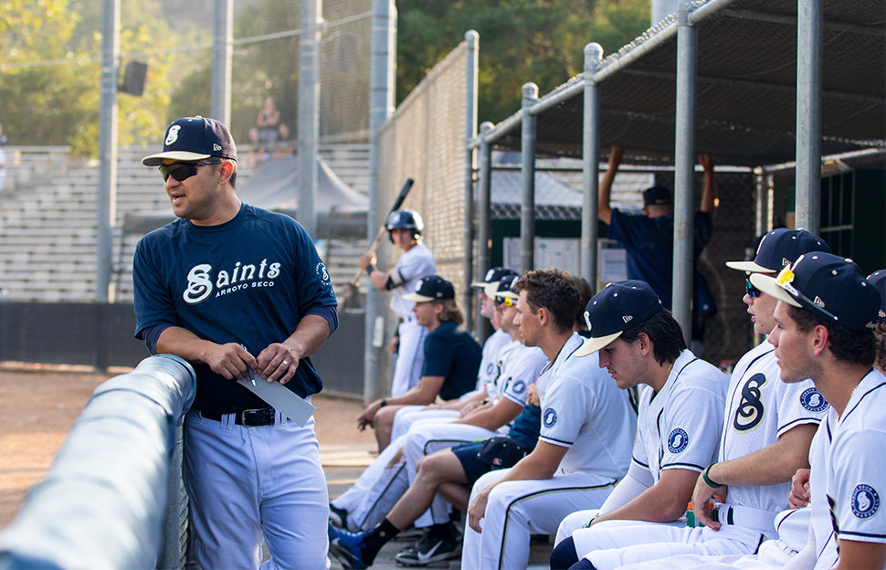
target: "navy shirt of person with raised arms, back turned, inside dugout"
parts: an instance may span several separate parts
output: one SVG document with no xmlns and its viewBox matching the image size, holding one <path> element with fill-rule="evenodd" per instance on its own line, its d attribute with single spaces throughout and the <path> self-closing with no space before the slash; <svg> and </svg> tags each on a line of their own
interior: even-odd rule
<svg viewBox="0 0 886 570">
<path fill-rule="evenodd" d="M 693 265 L 701 249 L 711 241 L 713 218 L 709 212 L 695 213 L 695 246 Z M 656 292 L 666 309 L 671 308 L 674 262 L 674 216 L 648 217 L 612 210 L 608 237 L 616 239 L 628 250 L 628 279 L 642 280 Z M 705 312 L 716 311 L 707 281 L 693 270 L 695 300 L 693 307 Z"/>
</svg>

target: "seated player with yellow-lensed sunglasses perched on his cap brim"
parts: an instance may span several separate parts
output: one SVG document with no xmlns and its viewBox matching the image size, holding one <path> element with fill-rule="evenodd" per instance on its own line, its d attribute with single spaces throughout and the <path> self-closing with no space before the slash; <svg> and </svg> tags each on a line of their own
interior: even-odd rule
<svg viewBox="0 0 886 570">
<path fill-rule="evenodd" d="M 800 516 L 811 512 L 807 544 L 793 555 L 766 549 L 784 542 L 778 540 L 762 544 L 756 556 L 677 556 L 661 562 L 697 570 L 886 567 L 886 514 L 880 499 L 886 490 L 881 459 L 886 446 L 886 354 L 882 338 L 878 342 L 871 333 L 878 309 L 883 315 L 876 324 L 880 330 L 886 316 L 886 302 L 875 290 L 879 283 L 863 280 L 849 259 L 826 253 L 797 259 L 775 280 L 762 275 L 751 279 L 779 300 L 769 342 L 775 345 L 782 380 L 794 383 L 810 376 L 831 403 L 809 451 L 810 480 L 799 485 L 811 491 L 811 507 L 794 511 Z M 796 492 L 797 486 L 792 502 L 804 502 Z M 653 567 L 662 566 L 631 566 Z"/>
</svg>

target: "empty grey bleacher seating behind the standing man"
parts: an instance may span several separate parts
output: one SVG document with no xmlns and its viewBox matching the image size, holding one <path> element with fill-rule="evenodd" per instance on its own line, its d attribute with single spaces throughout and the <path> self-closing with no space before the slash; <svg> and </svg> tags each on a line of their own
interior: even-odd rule
<svg viewBox="0 0 886 570">
<path fill-rule="evenodd" d="M 342 148 L 338 148 L 341 146 Z M 325 146 L 321 153 L 345 182 L 368 188 L 366 144 Z M 132 300 L 132 255 L 141 236 L 121 231 L 127 212 L 169 207 L 156 170 L 140 159 L 151 148 L 118 153 L 116 211 L 112 229 L 113 300 Z M 9 173 L 0 193 L 0 298 L 10 301 L 93 301 L 96 282 L 98 164 L 72 158 L 67 147 L 7 147 Z M 245 163 L 245 162 L 244 162 Z M 341 172 L 339 172 L 341 168 Z M 238 185 L 248 184 L 240 164 Z M 242 186 L 241 186 L 242 187 Z M 327 264 L 340 292 L 353 277 L 365 240 L 329 240 Z"/>
</svg>

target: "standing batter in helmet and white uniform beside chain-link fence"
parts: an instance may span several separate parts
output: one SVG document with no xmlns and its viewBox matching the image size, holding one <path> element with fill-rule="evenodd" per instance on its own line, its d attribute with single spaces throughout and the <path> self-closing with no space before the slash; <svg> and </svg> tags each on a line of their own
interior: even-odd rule
<svg viewBox="0 0 886 570">
<path fill-rule="evenodd" d="M 409 388 L 418 384 L 424 360 L 424 338 L 427 330 L 415 321 L 412 301 L 403 296 L 416 289 L 418 280 L 437 272 L 437 262 L 430 249 L 421 243 L 425 223 L 415 210 L 404 208 L 391 212 L 385 220 L 387 237 L 403 255 L 393 269 L 381 271 L 375 268 L 374 254 L 360 258 L 360 269 L 378 290 L 389 290 L 391 310 L 403 320 L 397 326 L 396 363 L 391 380 L 391 396 L 403 396 Z"/>
</svg>

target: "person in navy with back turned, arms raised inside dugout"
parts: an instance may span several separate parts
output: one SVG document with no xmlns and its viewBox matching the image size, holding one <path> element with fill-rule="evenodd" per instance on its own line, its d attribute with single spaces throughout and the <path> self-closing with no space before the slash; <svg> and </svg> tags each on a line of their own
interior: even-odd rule
<svg viewBox="0 0 886 570">
<path fill-rule="evenodd" d="M 609 205 L 612 183 L 624 152 L 623 148 L 613 146 L 612 153 L 609 154 L 609 168 L 600 182 L 597 196 L 598 216 L 609 226 L 607 236 L 617 240 L 628 250 L 628 279 L 649 283 L 665 309 L 670 310 L 673 292 L 674 203 L 670 190 L 655 185 L 643 191 L 643 214 L 628 214 Z M 704 167 L 704 191 L 694 223 L 692 335 L 694 339 L 701 340 L 703 320 L 706 315 L 716 312 L 717 307 L 707 280 L 694 267 L 701 255 L 701 249 L 707 245 L 713 234 L 717 189 L 713 177 L 713 157 L 701 154 L 699 162 Z"/>
</svg>

